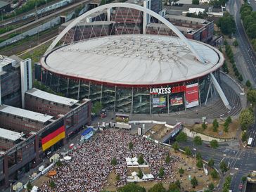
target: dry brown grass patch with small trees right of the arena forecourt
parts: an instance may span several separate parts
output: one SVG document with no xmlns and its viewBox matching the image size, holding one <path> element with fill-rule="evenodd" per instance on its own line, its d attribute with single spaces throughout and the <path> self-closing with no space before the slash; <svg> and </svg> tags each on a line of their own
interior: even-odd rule
<svg viewBox="0 0 256 192">
<path fill-rule="evenodd" d="M 212 136 L 219 139 L 232 139 L 236 137 L 239 122 L 237 120 L 233 120 L 233 122 L 229 124 L 229 132 L 224 132 L 224 121 L 219 122 L 218 132 L 213 132 L 212 124 L 207 124 L 207 129 L 205 130 L 203 130 L 201 124 L 186 124 L 185 127 L 191 129 L 191 131 L 198 132 L 200 134 L 205 134 L 207 136 Z M 219 132 L 222 132 L 222 134 L 219 134 Z"/>
</svg>

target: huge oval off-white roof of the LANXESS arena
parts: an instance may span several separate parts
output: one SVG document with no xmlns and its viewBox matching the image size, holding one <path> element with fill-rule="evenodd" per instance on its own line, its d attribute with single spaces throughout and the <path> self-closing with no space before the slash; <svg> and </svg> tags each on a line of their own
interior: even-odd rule
<svg viewBox="0 0 256 192">
<path fill-rule="evenodd" d="M 203 77 L 220 68 L 224 57 L 214 47 L 189 40 L 207 62 L 200 63 L 178 37 L 123 34 L 59 47 L 41 65 L 59 75 L 116 85 L 153 85 Z"/>
</svg>

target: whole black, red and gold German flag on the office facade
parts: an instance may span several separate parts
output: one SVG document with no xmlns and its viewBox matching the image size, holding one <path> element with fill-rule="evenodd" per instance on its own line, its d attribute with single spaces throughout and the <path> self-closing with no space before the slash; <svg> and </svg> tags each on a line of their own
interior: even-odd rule
<svg viewBox="0 0 256 192">
<path fill-rule="evenodd" d="M 59 127 L 60 126 L 60 127 Z M 43 151 L 46 151 L 47 148 L 50 148 L 55 143 L 65 138 L 65 127 L 62 125 L 56 124 L 56 126 L 48 129 L 41 136 L 41 145 Z"/>
</svg>

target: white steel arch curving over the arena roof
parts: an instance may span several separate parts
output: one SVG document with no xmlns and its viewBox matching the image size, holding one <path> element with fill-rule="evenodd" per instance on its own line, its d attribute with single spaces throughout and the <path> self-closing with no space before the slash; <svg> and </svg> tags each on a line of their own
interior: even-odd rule
<svg viewBox="0 0 256 192">
<path fill-rule="evenodd" d="M 52 44 L 47 49 L 46 53 L 51 51 L 56 46 L 56 44 L 58 44 L 58 41 L 60 41 L 60 39 L 63 38 L 64 35 L 69 30 L 71 30 L 72 27 L 75 27 L 75 25 L 77 25 L 77 23 L 79 23 L 81 20 L 89 17 L 93 13 L 96 13 L 98 11 L 103 11 L 104 9 L 109 9 L 109 8 L 133 8 L 138 11 L 142 11 L 143 13 L 146 13 L 148 15 L 151 15 L 153 18 L 160 20 L 160 22 L 165 24 L 167 27 L 169 27 L 170 30 L 172 30 L 175 34 L 177 34 L 177 36 L 181 39 L 181 41 L 184 42 L 184 44 L 186 44 L 186 46 L 188 46 L 188 48 L 192 51 L 192 53 L 196 56 L 197 60 L 200 61 L 200 63 L 205 63 L 204 58 L 200 56 L 200 54 L 196 51 L 196 49 L 193 48 L 192 44 L 186 39 L 186 37 L 184 37 L 184 34 L 182 34 L 177 29 L 177 27 L 174 27 L 172 23 L 169 23 L 168 20 L 166 20 L 161 15 L 159 15 L 158 13 L 155 13 L 154 11 L 151 11 L 148 8 L 144 8 L 143 6 L 138 6 L 136 4 L 126 4 L 126 3 L 105 4 L 103 6 L 98 6 L 96 8 L 93 8 L 90 11 L 87 11 L 86 13 L 84 13 L 83 15 L 80 15 L 78 18 L 73 20 L 72 23 L 68 25 L 68 27 L 65 27 L 65 29 L 62 32 L 60 32 L 60 34 L 58 34 L 58 37 L 56 37 L 56 39 L 52 42 Z"/>
</svg>

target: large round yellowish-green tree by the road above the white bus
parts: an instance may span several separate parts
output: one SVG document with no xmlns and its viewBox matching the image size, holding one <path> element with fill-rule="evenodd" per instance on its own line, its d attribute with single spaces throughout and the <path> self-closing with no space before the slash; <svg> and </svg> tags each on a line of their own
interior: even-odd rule
<svg viewBox="0 0 256 192">
<path fill-rule="evenodd" d="M 244 109 L 239 115 L 239 122 L 242 130 L 248 129 L 255 121 L 254 114 L 249 109 Z"/>
</svg>

